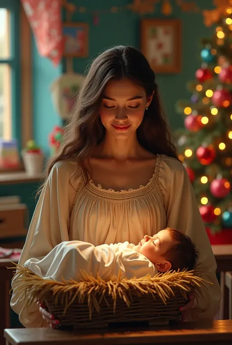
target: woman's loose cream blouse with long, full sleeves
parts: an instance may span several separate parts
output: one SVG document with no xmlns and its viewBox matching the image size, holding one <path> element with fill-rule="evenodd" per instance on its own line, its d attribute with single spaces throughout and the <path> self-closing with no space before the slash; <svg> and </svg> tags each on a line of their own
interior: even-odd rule
<svg viewBox="0 0 232 345">
<path fill-rule="evenodd" d="M 137 244 L 145 234 L 176 228 L 197 244 L 201 276 L 213 283 L 202 289 L 203 296 L 197 297 L 188 319 L 212 320 L 221 299 L 216 262 L 185 167 L 176 159 L 158 155 L 148 184 L 121 191 L 105 190 L 93 181 L 85 184 L 81 169 L 71 177 L 75 170 L 74 160 L 53 166 L 19 265 L 32 257 L 43 258 L 62 241 L 81 240 L 94 246 L 125 241 Z M 12 288 L 11 307 L 19 314 L 20 322 L 26 327 L 46 326 L 38 306 L 25 308 L 24 301 L 14 295 L 14 281 Z"/>
</svg>

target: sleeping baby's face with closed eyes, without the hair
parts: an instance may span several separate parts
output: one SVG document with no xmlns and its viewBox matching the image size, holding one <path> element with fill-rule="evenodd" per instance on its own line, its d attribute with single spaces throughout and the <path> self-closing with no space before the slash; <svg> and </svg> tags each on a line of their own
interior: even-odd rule
<svg viewBox="0 0 232 345">
<path fill-rule="evenodd" d="M 165 264 L 166 260 L 163 255 L 170 249 L 172 238 L 168 230 L 159 231 L 153 237 L 145 235 L 144 238 L 135 247 L 135 251 L 146 256 L 154 265 Z M 157 267 L 158 268 L 158 267 Z M 166 267 L 169 270 L 171 267 Z M 162 269 L 159 269 L 162 271 Z M 164 272 L 163 271 L 163 272 Z"/>
</svg>

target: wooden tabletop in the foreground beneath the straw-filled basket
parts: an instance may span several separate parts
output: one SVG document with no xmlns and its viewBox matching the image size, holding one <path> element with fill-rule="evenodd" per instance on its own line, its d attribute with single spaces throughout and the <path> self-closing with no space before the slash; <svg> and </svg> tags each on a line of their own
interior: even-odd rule
<svg viewBox="0 0 232 345">
<path fill-rule="evenodd" d="M 5 329 L 4 337 L 10 345 L 232 345 L 232 320 L 76 332 L 50 327 Z"/>
</svg>

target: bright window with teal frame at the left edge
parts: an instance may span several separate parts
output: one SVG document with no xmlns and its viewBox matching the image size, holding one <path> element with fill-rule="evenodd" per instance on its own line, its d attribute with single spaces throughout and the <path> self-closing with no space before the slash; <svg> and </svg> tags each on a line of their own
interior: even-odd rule
<svg viewBox="0 0 232 345">
<path fill-rule="evenodd" d="M 0 138 L 21 139 L 20 1 L 0 0 Z"/>
</svg>

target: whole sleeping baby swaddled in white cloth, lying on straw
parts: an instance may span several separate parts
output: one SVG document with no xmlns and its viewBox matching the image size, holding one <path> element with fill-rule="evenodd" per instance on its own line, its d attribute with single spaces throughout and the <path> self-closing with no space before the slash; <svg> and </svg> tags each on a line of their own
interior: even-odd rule
<svg viewBox="0 0 232 345">
<path fill-rule="evenodd" d="M 139 278 L 168 270 L 193 270 L 198 257 L 188 236 L 166 228 L 154 236 L 145 235 L 138 245 L 124 242 L 95 247 L 83 241 L 61 242 L 46 256 L 31 258 L 23 266 L 44 279 L 79 281 L 85 271 L 106 280 L 111 276 Z"/>
</svg>

